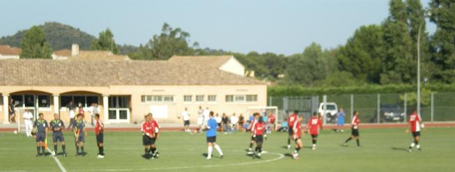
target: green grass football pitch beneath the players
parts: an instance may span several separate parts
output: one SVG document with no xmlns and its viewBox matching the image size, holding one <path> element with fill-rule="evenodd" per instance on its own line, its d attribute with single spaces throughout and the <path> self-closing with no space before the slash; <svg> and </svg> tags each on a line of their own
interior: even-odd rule
<svg viewBox="0 0 455 172">
<path fill-rule="evenodd" d="M 308 147 L 300 151 L 300 159 L 288 155 L 286 133 L 269 134 L 261 159 L 245 155 L 249 134 L 219 133 L 217 143 L 224 158 L 206 160 L 205 135 L 184 132 L 163 132 L 157 141 L 158 159 L 141 155 L 141 134 L 138 132 L 106 132 L 105 159 L 97 159 L 95 136 L 88 134 L 86 157 L 75 157 L 74 139 L 68 141 L 68 157 L 59 156 L 66 171 L 455 171 L 454 128 L 426 128 L 422 133 L 423 152 L 407 153 L 412 138 L 404 129 L 361 130 L 362 147 L 355 141 L 348 147 L 339 146 L 348 133 L 325 130 L 319 137 L 318 150 Z M 309 146 L 311 137 L 303 137 Z M 49 136 L 49 148 L 53 148 Z M 59 150 L 61 147 L 59 146 Z M 35 157 L 33 139 L 22 134 L 0 133 L 0 171 L 61 171 L 52 157 Z"/>
</svg>

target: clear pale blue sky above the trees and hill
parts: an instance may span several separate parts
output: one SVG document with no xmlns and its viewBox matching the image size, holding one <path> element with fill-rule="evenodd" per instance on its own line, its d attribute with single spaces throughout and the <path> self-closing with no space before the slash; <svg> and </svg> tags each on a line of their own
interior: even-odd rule
<svg viewBox="0 0 455 172">
<path fill-rule="evenodd" d="M 343 45 L 359 26 L 380 24 L 387 15 L 388 0 L 0 0 L 0 36 L 55 21 L 94 36 L 109 27 L 119 44 L 139 45 L 167 22 L 200 47 L 294 54 L 311 42 Z"/>
</svg>

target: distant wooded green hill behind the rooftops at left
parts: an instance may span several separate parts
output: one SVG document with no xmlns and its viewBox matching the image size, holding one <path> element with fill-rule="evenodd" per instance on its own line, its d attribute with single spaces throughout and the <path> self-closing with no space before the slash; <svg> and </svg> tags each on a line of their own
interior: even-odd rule
<svg viewBox="0 0 455 172">
<path fill-rule="evenodd" d="M 70 49 L 73 43 L 79 44 L 80 49 L 90 49 L 91 41 L 95 38 L 84 31 L 58 22 L 46 22 L 40 27 L 45 33 L 47 42 L 54 50 Z M 1 37 L 0 45 L 21 47 L 20 41 L 26 31 L 17 31 L 13 36 Z"/>
</svg>

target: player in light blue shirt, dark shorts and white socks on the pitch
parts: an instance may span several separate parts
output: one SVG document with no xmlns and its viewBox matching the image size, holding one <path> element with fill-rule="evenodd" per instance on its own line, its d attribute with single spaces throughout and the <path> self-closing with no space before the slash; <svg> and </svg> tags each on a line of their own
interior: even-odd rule
<svg viewBox="0 0 455 172">
<path fill-rule="evenodd" d="M 213 111 L 210 111 L 210 119 L 207 121 L 207 125 L 205 128 L 206 136 L 207 136 L 207 147 L 208 147 L 207 159 L 212 158 L 213 147 L 215 147 L 215 149 L 217 149 L 220 158 L 223 157 L 223 152 L 222 152 L 221 148 L 219 148 L 219 146 L 217 145 L 217 127 L 218 127 L 218 123 L 215 120 L 215 118 L 213 118 Z"/>
</svg>

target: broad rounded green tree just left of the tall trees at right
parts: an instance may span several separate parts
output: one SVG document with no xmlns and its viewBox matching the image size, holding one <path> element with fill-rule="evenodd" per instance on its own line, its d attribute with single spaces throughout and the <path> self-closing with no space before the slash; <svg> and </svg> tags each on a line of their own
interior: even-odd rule
<svg viewBox="0 0 455 172">
<path fill-rule="evenodd" d="M 360 81 L 379 83 L 382 59 L 385 56 L 384 44 L 380 26 L 361 26 L 346 45 L 340 47 L 337 56 L 339 70 L 350 72 Z"/>
</svg>

